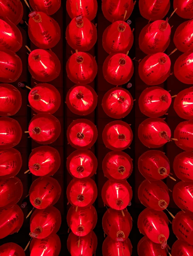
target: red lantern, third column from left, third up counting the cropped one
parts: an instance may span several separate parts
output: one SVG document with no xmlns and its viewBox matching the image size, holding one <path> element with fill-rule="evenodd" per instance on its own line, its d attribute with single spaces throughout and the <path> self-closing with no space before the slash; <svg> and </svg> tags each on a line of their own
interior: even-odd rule
<svg viewBox="0 0 193 256">
<path fill-rule="evenodd" d="M 71 205 L 78 207 L 88 207 L 97 198 L 97 186 L 93 179 L 72 179 L 67 186 L 67 199 Z"/>
</svg>

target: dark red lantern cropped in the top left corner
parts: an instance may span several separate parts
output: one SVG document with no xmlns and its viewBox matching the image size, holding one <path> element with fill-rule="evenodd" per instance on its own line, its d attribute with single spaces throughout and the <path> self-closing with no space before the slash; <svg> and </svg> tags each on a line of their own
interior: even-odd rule
<svg viewBox="0 0 193 256">
<path fill-rule="evenodd" d="M 17 25 L 23 17 L 23 5 L 19 0 L 2 0 L 0 14 L 0 18 L 8 18 Z"/>
</svg>

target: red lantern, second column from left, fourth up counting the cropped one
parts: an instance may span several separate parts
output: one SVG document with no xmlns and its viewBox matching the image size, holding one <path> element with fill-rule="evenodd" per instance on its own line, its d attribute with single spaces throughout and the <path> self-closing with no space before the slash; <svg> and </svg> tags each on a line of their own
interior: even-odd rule
<svg viewBox="0 0 193 256">
<path fill-rule="evenodd" d="M 60 166 L 59 152 L 50 146 L 33 149 L 29 157 L 29 170 L 35 176 L 54 175 Z"/>
</svg>

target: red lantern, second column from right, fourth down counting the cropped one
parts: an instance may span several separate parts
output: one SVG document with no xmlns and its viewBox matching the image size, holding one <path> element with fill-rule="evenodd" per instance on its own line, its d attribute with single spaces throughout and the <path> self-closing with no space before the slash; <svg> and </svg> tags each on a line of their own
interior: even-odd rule
<svg viewBox="0 0 193 256">
<path fill-rule="evenodd" d="M 139 109 L 147 117 L 161 117 L 171 105 L 171 95 L 161 87 L 146 88 L 139 97 Z"/>
</svg>

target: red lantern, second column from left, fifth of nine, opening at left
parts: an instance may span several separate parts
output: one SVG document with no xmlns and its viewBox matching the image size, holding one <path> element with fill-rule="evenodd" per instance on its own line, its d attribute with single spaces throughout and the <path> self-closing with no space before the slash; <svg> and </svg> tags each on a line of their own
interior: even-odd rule
<svg viewBox="0 0 193 256">
<path fill-rule="evenodd" d="M 61 133 L 59 120 L 50 114 L 37 114 L 29 123 L 29 135 L 40 144 L 56 141 Z"/>
</svg>

